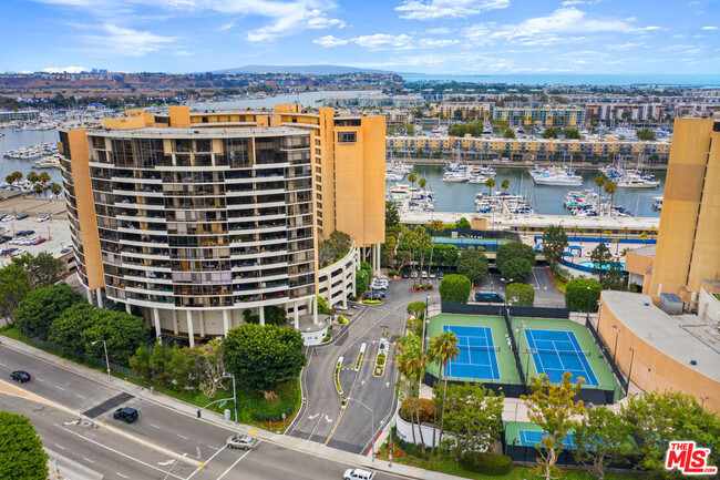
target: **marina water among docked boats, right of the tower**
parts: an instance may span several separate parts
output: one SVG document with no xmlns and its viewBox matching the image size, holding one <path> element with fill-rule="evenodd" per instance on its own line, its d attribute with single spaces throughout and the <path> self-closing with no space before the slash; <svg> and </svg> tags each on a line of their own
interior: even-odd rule
<svg viewBox="0 0 720 480">
<path fill-rule="evenodd" d="M 508 193 L 525 195 L 531 201 L 536 214 L 546 215 L 570 215 L 570 212 L 563 206 L 565 193 L 585 188 L 593 188 L 597 192 L 595 178 L 600 175 L 597 171 L 578 170 L 576 173 L 583 176 L 583 186 L 555 186 L 535 185 L 527 168 L 495 168 L 495 171 L 497 176 L 495 176 L 494 190 L 502 191 L 501 183 L 508 180 Z M 431 188 L 435 193 L 435 212 L 475 213 L 475 194 L 487 192 L 487 187 L 480 183 L 442 182 L 442 166 L 418 165 L 414 167 L 414 172 L 418 180 L 424 177 L 428 181 L 425 188 Z M 659 217 L 660 211 L 652 208 L 652 197 L 662 195 L 666 172 L 654 171 L 652 174 L 660 182 L 658 188 L 618 188 L 615 194 L 615 203 L 624 205 L 635 216 Z M 405 177 L 402 182 L 387 182 L 387 185 L 392 186 L 398 183 L 410 184 Z M 416 182 L 415 186 L 418 186 Z"/>
</svg>

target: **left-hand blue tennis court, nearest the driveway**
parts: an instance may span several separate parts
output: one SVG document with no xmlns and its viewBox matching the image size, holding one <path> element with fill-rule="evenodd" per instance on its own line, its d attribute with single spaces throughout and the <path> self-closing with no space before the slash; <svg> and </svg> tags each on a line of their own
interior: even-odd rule
<svg viewBox="0 0 720 480">
<path fill-rule="evenodd" d="M 461 327 L 444 325 L 443 330 L 452 330 L 457 337 L 460 355 L 448 365 L 448 376 L 500 380 L 496 347 L 488 327 Z"/>
</svg>

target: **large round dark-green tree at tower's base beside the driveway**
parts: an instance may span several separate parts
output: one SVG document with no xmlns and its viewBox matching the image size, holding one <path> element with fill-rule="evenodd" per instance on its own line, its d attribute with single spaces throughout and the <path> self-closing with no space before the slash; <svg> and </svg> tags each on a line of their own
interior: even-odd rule
<svg viewBox="0 0 720 480">
<path fill-rule="evenodd" d="M 233 328 L 223 340 L 223 358 L 240 385 L 266 391 L 296 378 L 308 361 L 300 333 L 272 325 Z"/>
</svg>

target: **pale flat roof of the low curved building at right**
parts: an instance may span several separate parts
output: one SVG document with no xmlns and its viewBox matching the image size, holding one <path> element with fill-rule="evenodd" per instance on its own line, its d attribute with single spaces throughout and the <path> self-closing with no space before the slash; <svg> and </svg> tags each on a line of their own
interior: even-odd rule
<svg viewBox="0 0 720 480">
<path fill-rule="evenodd" d="M 668 315 L 649 295 L 605 290 L 603 300 L 635 335 L 678 362 L 720 381 L 720 333 L 697 315 Z M 690 362 L 695 360 L 697 365 Z"/>
</svg>

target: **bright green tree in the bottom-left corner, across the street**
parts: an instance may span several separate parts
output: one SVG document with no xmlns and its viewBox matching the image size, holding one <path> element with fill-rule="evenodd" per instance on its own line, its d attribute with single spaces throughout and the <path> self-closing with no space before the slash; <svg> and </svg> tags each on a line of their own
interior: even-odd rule
<svg viewBox="0 0 720 480">
<path fill-rule="evenodd" d="M 48 458 L 30 419 L 0 410 L 0 478 L 45 480 Z"/>
</svg>

